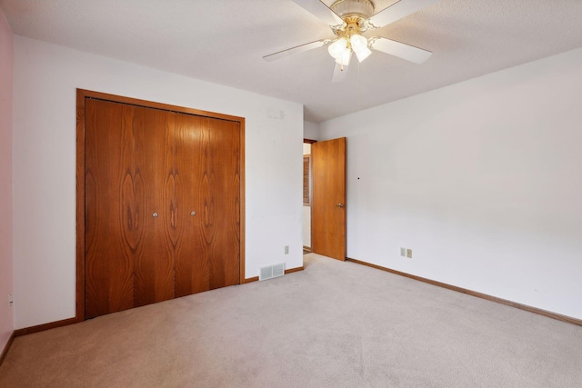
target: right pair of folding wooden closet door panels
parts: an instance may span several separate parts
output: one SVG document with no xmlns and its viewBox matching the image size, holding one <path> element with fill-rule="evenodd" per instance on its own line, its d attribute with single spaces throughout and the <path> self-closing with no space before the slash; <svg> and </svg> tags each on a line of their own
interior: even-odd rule
<svg viewBox="0 0 582 388">
<path fill-rule="evenodd" d="M 240 283 L 238 125 L 176 115 L 176 296 Z"/>
</svg>

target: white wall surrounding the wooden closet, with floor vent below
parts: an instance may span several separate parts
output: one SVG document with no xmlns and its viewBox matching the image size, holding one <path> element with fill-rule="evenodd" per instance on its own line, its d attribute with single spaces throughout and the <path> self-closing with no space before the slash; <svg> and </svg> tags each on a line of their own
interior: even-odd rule
<svg viewBox="0 0 582 388">
<path fill-rule="evenodd" d="M 245 117 L 246 277 L 303 265 L 301 104 L 18 35 L 14 88 L 15 328 L 75 316 L 75 88 Z"/>
</svg>

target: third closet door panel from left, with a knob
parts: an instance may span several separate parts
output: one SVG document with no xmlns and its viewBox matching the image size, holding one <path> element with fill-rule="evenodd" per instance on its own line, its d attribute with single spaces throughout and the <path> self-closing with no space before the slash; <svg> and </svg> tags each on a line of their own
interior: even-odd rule
<svg viewBox="0 0 582 388">
<path fill-rule="evenodd" d="M 200 194 L 204 176 L 201 121 L 196 115 L 176 114 L 176 296 L 206 291 L 210 284 L 207 248 L 200 228 L 204 219 Z"/>
</svg>

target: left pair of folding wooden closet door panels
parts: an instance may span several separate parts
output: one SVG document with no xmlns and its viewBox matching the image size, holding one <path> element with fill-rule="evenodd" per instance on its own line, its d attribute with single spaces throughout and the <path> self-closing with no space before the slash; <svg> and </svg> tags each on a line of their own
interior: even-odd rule
<svg viewBox="0 0 582 388">
<path fill-rule="evenodd" d="M 85 318 L 174 297 L 167 113 L 85 102 Z"/>
</svg>

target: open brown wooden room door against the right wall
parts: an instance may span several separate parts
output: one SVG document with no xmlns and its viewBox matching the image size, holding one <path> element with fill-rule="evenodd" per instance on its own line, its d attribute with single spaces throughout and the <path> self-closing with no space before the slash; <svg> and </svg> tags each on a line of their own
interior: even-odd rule
<svg viewBox="0 0 582 388">
<path fill-rule="evenodd" d="M 346 260 L 346 138 L 311 144 L 312 251 Z"/>
</svg>

